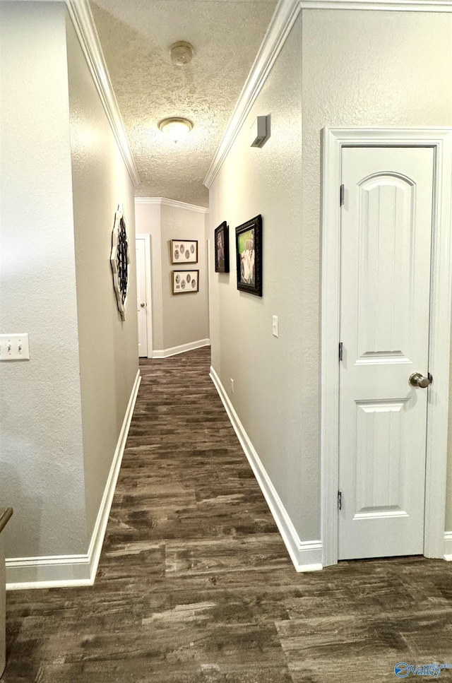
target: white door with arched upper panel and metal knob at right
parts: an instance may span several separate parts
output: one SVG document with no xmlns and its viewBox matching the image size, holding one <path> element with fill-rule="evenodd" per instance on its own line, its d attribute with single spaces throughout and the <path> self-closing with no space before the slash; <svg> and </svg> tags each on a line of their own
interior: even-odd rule
<svg viewBox="0 0 452 683">
<path fill-rule="evenodd" d="M 343 148 L 338 558 L 422 554 L 432 148 Z"/>
</svg>

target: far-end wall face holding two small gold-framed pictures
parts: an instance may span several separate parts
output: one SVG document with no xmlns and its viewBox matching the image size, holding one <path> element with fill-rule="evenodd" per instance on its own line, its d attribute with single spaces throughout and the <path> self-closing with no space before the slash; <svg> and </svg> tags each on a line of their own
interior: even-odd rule
<svg viewBox="0 0 452 683">
<path fill-rule="evenodd" d="M 204 213 L 175 206 L 161 207 L 163 344 L 165 349 L 206 339 L 209 336 L 207 262 Z M 199 271 L 199 292 L 172 294 L 172 239 L 197 239 L 198 263 L 182 270 Z"/>
</svg>

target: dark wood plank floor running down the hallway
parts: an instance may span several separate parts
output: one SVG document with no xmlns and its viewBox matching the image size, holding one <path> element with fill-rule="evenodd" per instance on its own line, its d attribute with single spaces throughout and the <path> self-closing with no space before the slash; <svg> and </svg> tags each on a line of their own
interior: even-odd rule
<svg viewBox="0 0 452 683">
<path fill-rule="evenodd" d="M 451 564 L 295 572 L 208 366 L 208 349 L 142 362 L 95 586 L 8 593 L 2 683 L 374 683 L 451 663 Z"/>
</svg>

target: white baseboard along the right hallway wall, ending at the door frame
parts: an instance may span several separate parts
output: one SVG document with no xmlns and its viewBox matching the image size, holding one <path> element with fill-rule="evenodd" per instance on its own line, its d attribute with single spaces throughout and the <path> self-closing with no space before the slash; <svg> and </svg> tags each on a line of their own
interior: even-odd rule
<svg viewBox="0 0 452 683">
<path fill-rule="evenodd" d="M 237 434 L 246 458 L 248 458 L 258 485 L 261 487 L 263 496 L 267 501 L 270 512 L 283 537 L 287 552 L 290 555 L 290 559 L 292 559 L 295 569 L 297 571 L 318 571 L 319 569 L 323 569 L 321 541 L 302 541 L 299 539 L 299 535 L 283 505 L 283 501 L 281 501 L 278 496 L 278 492 L 266 473 L 266 469 L 261 463 L 261 459 L 256 453 L 253 444 L 251 444 L 249 436 L 246 434 L 242 422 L 240 422 L 239 416 L 237 415 L 237 412 L 235 412 L 229 396 L 227 396 L 225 388 L 222 386 L 220 378 L 213 367 L 210 367 L 210 379 L 212 379 L 213 384 L 215 384 L 222 403 L 225 406 L 227 416 L 230 419 L 232 427 L 234 427 L 234 431 Z"/>
</svg>

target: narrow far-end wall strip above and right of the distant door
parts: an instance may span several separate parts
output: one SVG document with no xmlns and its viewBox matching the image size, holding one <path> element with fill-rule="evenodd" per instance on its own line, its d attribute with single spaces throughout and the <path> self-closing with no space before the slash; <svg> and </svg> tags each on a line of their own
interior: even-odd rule
<svg viewBox="0 0 452 683">
<path fill-rule="evenodd" d="M 160 237 L 160 204 L 135 203 L 137 234 L 150 234 L 150 271 L 152 285 L 151 314 L 153 319 L 153 349 L 163 347 L 162 309 L 162 240 Z"/>
</svg>

